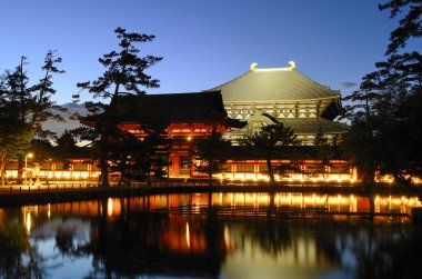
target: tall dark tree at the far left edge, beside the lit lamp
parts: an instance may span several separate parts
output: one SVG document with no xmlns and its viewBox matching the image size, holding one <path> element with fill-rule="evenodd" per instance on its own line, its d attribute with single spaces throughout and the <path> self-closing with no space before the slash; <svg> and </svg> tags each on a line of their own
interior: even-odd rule
<svg viewBox="0 0 422 279">
<path fill-rule="evenodd" d="M 36 136 L 39 138 L 53 136 L 53 132 L 42 127 L 42 122 L 48 119 L 62 120 L 57 112 L 64 110 L 51 101 L 52 94 L 56 93 L 52 88 L 53 74 L 63 73 L 57 68 L 62 61 L 61 58 L 57 57 L 54 51 L 48 51 L 44 64 L 41 67 L 43 77 L 32 86 L 29 84 L 24 71 L 26 60 L 26 57 L 21 57 L 19 66 L 13 71 L 7 70 L 0 80 L 0 117 L 4 123 L 0 141 L 7 142 L 1 153 L 2 158 L 19 159 L 19 180 L 22 179 L 23 158 L 29 142 Z M 2 170 L 6 169 L 6 163 L 7 160 L 2 160 Z"/>
</svg>

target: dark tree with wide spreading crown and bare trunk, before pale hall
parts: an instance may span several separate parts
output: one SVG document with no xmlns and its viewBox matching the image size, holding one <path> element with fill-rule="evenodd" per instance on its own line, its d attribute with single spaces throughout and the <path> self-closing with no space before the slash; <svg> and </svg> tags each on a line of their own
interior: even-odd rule
<svg viewBox="0 0 422 279">
<path fill-rule="evenodd" d="M 247 150 L 265 158 L 270 181 L 274 185 L 274 169 L 271 160 L 274 156 L 281 156 L 282 148 L 298 145 L 299 141 L 290 127 L 284 127 L 283 123 L 278 122 L 262 126 L 261 131 L 253 132 L 252 136 L 245 136 L 241 143 L 247 147 Z"/>
</svg>

